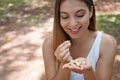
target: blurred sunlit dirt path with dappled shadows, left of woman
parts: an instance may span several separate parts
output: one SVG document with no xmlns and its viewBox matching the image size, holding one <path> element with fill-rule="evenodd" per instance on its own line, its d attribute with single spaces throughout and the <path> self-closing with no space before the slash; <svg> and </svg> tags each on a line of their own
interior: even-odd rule
<svg viewBox="0 0 120 80">
<path fill-rule="evenodd" d="M 44 27 L 0 26 L 0 80 L 45 80 L 41 46 L 51 28 L 48 21 Z"/>
</svg>

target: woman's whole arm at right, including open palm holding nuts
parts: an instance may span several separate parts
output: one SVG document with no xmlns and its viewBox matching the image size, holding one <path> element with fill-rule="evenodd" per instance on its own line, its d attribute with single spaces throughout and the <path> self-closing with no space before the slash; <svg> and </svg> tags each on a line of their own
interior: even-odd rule
<svg viewBox="0 0 120 80">
<path fill-rule="evenodd" d="M 84 74 L 85 80 L 111 80 L 116 49 L 116 40 L 109 35 L 104 35 L 101 41 L 100 57 L 97 62 L 96 72 L 94 72 L 90 61 L 86 58 L 78 58 L 80 61 L 79 64 L 74 62 L 76 60 L 73 60 L 72 62 L 63 65 L 63 69 Z"/>
</svg>

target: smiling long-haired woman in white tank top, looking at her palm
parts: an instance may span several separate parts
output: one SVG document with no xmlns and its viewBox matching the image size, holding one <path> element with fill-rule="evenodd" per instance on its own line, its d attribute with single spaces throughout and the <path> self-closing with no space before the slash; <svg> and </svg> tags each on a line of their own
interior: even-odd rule
<svg viewBox="0 0 120 80">
<path fill-rule="evenodd" d="M 56 0 L 53 35 L 43 43 L 47 80 L 110 80 L 116 40 L 96 31 L 92 0 Z"/>
</svg>

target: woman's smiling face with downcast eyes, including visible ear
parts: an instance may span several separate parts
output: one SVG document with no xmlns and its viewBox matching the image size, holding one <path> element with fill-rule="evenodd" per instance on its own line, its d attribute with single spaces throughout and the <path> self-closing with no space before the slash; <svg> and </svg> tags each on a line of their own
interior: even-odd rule
<svg viewBox="0 0 120 80">
<path fill-rule="evenodd" d="M 71 38 L 87 33 L 92 12 L 80 0 L 66 0 L 60 6 L 60 24 Z"/>
</svg>

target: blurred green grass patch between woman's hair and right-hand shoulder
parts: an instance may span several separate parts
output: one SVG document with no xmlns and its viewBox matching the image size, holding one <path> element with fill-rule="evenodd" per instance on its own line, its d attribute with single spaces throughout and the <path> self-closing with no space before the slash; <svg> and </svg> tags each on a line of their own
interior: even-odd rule
<svg viewBox="0 0 120 80">
<path fill-rule="evenodd" d="M 120 14 L 97 15 L 97 29 L 113 35 L 120 43 Z"/>
</svg>

